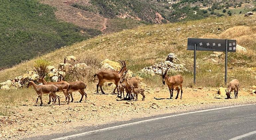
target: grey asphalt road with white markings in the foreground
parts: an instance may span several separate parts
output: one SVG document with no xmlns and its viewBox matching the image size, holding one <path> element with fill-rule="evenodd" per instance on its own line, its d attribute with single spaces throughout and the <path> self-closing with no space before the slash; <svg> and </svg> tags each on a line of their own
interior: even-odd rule
<svg viewBox="0 0 256 140">
<path fill-rule="evenodd" d="M 255 140 L 255 116 L 256 105 L 232 106 L 183 114 L 166 114 L 33 139 Z"/>
</svg>

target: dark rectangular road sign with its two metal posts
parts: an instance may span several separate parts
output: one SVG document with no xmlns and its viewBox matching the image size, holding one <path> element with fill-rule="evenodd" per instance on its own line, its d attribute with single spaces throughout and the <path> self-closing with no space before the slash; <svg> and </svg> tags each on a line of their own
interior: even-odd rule
<svg viewBox="0 0 256 140">
<path fill-rule="evenodd" d="M 225 84 L 227 83 L 227 53 L 236 52 L 236 40 L 188 38 L 187 50 L 194 50 L 194 84 L 196 75 L 196 51 L 222 51 L 225 52 Z"/>
</svg>

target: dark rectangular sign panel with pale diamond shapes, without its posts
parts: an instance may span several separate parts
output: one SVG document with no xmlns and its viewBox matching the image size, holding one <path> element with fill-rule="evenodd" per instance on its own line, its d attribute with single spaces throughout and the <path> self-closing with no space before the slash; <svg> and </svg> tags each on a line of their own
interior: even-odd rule
<svg viewBox="0 0 256 140">
<path fill-rule="evenodd" d="M 187 50 L 194 50 L 196 44 L 196 50 L 201 51 L 226 51 L 225 39 L 206 39 L 206 38 L 188 38 Z M 228 40 L 228 52 L 236 52 L 236 40 Z"/>
</svg>

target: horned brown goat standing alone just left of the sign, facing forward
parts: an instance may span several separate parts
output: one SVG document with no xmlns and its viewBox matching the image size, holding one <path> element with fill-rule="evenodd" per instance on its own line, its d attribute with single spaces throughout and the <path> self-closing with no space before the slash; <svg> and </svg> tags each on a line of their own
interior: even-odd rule
<svg viewBox="0 0 256 140">
<path fill-rule="evenodd" d="M 183 77 L 181 75 L 175 75 L 175 76 L 171 76 L 171 77 L 168 77 L 166 76 L 168 70 L 169 70 L 170 67 L 168 67 L 165 71 L 165 73 L 163 72 L 163 68 L 162 68 L 162 82 L 163 84 L 165 85 L 165 83 L 167 84 L 168 88 L 169 88 L 169 91 L 170 91 L 170 99 L 173 98 L 173 90 L 174 88 L 177 90 L 177 96 L 175 99 L 178 99 L 179 97 L 179 92 L 180 92 L 180 89 L 179 89 L 179 86 L 181 88 L 181 99 L 182 99 L 182 84 L 183 84 Z"/>
</svg>

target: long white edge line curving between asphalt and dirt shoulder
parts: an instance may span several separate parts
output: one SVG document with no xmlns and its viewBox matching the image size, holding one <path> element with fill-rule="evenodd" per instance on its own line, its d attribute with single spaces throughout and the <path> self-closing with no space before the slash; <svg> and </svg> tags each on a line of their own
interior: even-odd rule
<svg viewBox="0 0 256 140">
<path fill-rule="evenodd" d="M 113 129 L 117 129 L 117 128 L 121 128 L 121 127 L 125 127 L 125 126 L 135 125 L 135 124 L 149 122 L 149 121 L 154 121 L 154 120 L 159 120 L 159 119 L 165 119 L 165 118 L 170 118 L 170 117 L 175 117 L 175 116 L 182 116 L 182 115 L 194 114 L 194 113 L 200 113 L 200 112 L 206 112 L 206 111 L 214 111 L 214 110 L 220 110 L 220 109 L 227 109 L 227 108 L 233 108 L 233 107 L 241 107 L 241 106 L 247 106 L 247 105 L 256 105 L 256 104 L 226 106 L 226 107 L 205 109 L 205 110 L 193 111 L 193 112 L 188 112 L 188 113 L 181 113 L 181 114 L 175 114 L 175 115 L 170 115 L 170 116 L 146 119 L 146 120 L 141 120 L 141 121 L 137 121 L 137 122 L 131 122 L 131 123 L 126 123 L 126 124 L 122 124 L 122 125 L 117 125 L 117 126 L 112 126 L 112 127 L 92 130 L 92 131 L 88 131 L 88 132 L 83 132 L 83 133 L 79 133 L 79 134 L 74 134 L 74 135 L 70 135 L 70 136 L 64 136 L 64 137 L 60 137 L 60 138 L 56 138 L 56 139 L 52 139 L 52 140 L 71 139 L 71 138 L 75 138 L 75 137 L 79 137 L 79 136 L 89 135 L 89 134 L 92 134 L 92 133 L 102 132 L 102 131 L 106 131 L 106 130 L 113 130 Z"/>
</svg>

